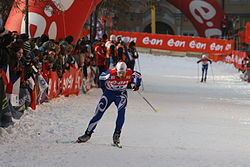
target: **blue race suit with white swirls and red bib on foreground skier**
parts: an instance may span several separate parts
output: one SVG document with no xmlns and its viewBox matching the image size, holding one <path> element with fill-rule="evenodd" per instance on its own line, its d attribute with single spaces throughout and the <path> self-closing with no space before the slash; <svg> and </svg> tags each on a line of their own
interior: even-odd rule
<svg viewBox="0 0 250 167">
<path fill-rule="evenodd" d="M 97 126 L 97 123 L 102 118 L 104 112 L 114 102 L 118 109 L 115 131 L 121 131 L 125 120 L 125 110 L 127 106 L 127 85 L 129 82 L 135 84 L 138 88 L 141 85 L 141 74 L 131 69 L 127 69 L 126 77 L 120 79 L 117 77 L 116 68 L 112 68 L 103 72 L 100 77 L 100 85 L 103 91 L 102 97 L 96 107 L 95 115 L 90 120 L 87 134 L 92 134 Z"/>
</svg>

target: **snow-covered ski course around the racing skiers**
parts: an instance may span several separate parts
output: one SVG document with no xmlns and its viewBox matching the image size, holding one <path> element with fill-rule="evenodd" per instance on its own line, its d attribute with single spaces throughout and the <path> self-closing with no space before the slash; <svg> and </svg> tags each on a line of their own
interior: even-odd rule
<svg viewBox="0 0 250 167">
<path fill-rule="evenodd" d="M 90 141 L 70 143 L 94 114 L 101 90 L 93 89 L 40 105 L 2 131 L 0 166 L 248 167 L 250 85 L 223 63 L 213 63 L 200 83 L 197 60 L 141 54 L 142 94 L 159 112 L 129 90 L 122 149 L 110 146 L 114 105 Z"/>
</svg>

